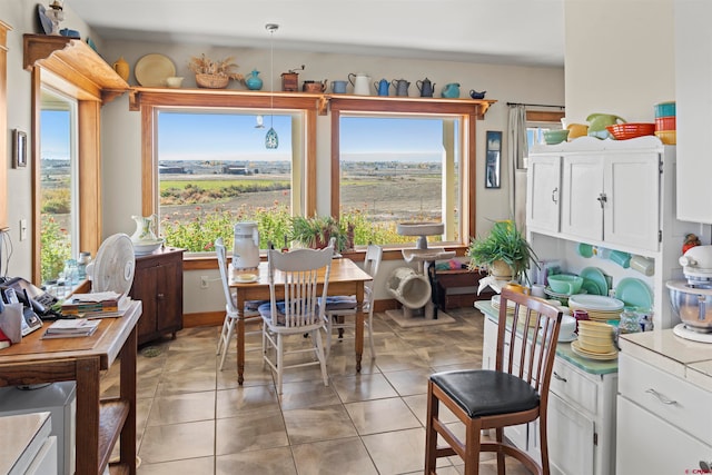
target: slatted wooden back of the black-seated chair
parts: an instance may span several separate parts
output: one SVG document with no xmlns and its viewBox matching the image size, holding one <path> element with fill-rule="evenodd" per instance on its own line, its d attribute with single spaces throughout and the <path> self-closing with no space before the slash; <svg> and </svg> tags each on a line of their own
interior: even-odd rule
<svg viewBox="0 0 712 475">
<path fill-rule="evenodd" d="M 551 304 L 503 289 L 495 369 L 518 376 L 547 397 L 561 319 L 562 313 Z"/>
</svg>

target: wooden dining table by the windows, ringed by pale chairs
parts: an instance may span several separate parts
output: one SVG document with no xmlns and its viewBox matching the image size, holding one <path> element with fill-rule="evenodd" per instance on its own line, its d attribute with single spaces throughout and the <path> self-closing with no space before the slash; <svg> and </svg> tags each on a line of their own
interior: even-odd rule
<svg viewBox="0 0 712 475">
<path fill-rule="evenodd" d="M 229 285 L 237 289 L 237 383 L 245 380 L 245 301 L 269 300 L 269 277 L 267 263 L 259 263 L 257 270 L 235 270 L 229 267 Z M 253 284 L 243 284 L 235 280 L 239 274 L 257 274 L 258 279 Z M 275 275 L 275 283 L 284 283 L 280 273 Z M 356 296 L 356 372 L 360 372 L 360 359 L 364 353 L 364 283 L 372 280 L 368 273 L 354 264 L 350 259 L 334 259 L 329 274 L 328 295 L 355 295 Z M 277 288 L 279 291 L 280 289 Z M 284 288 L 281 288 L 284 290 Z M 279 298 L 279 296 L 278 296 Z"/>
</svg>

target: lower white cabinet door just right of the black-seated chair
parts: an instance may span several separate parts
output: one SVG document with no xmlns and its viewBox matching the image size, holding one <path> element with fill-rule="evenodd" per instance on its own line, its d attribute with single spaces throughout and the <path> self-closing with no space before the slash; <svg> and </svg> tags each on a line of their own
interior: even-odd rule
<svg viewBox="0 0 712 475">
<path fill-rule="evenodd" d="M 546 437 L 552 474 L 593 474 L 594 429 L 593 420 L 550 392 Z"/>
</svg>

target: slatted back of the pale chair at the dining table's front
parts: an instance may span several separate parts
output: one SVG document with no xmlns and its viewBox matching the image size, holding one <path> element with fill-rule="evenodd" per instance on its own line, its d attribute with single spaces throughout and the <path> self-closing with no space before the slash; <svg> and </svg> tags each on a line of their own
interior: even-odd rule
<svg viewBox="0 0 712 475">
<path fill-rule="evenodd" d="M 286 327 L 318 324 L 324 319 L 319 297 L 326 298 L 334 249 L 295 249 L 289 253 L 269 250 L 269 294 L 273 320 L 279 310 Z M 320 279 L 319 276 L 324 275 Z M 324 281 L 319 293 L 319 280 Z M 277 288 L 284 289 L 284 300 L 278 303 Z M 284 308 L 281 308 L 284 305 Z M 275 323 L 275 321 L 273 321 Z"/>
</svg>

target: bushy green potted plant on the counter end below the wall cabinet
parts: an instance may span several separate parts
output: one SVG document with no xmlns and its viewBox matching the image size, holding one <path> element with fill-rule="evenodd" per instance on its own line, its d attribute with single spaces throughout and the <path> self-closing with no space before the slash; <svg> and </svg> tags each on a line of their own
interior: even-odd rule
<svg viewBox="0 0 712 475">
<path fill-rule="evenodd" d="M 503 280 L 526 278 L 536 254 L 512 220 L 496 221 L 484 238 L 473 239 L 467 249 L 471 266 L 486 266 L 490 274 Z"/>
</svg>

